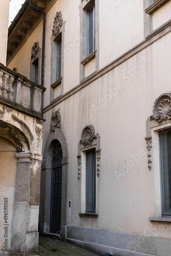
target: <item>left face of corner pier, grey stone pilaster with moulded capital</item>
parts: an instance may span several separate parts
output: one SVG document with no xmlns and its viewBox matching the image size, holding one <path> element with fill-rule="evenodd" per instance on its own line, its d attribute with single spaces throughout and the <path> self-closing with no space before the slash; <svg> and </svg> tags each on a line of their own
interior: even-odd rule
<svg viewBox="0 0 171 256">
<path fill-rule="evenodd" d="M 16 153 L 18 160 L 12 232 L 12 252 L 26 253 L 29 218 L 31 153 Z"/>
</svg>

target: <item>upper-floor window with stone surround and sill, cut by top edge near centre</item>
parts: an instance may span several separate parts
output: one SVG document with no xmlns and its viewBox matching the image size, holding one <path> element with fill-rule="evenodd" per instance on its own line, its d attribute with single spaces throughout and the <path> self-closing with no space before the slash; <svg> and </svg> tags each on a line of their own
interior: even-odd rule
<svg viewBox="0 0 171 256">
<path fill-rule="evenodd" d="M 80 5 L 80 81 L 99 70 L 99 1 Z"/>
</svg>

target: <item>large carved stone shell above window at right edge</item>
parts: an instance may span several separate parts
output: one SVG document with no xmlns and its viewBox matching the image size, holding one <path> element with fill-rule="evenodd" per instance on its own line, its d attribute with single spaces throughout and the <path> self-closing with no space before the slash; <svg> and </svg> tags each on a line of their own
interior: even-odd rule
<svg viewBox="0 0 171 256">
<path fill-rule="evenodd" d="M 159 123 L 171 118 L 171 93 L 162 94 L 156 99 L 153 107 L 153 115 L 149 117 L 152 121 L 156 119 Z"/>
</svg>

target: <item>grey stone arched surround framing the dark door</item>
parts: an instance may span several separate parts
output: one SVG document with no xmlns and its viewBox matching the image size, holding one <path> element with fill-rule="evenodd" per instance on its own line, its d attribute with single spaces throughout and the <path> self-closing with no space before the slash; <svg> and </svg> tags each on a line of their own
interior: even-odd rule
<svg viewBox="0 0 171 256">
<path fill-rule="evenodd" d="M 51 174 L 52 174 L 52 154 L 51 146 L 53 141 L 58 140 L 62 148 L 62 202 L 61 202 L 61 226 L 60 238 L 65 236 L 66 225 L 66 187 L 68 171 L 68 150 L 65 135 L 61 129 L 50 132 L 47 139 L 42 159 L 41 189 L 40 189 L 40 232 L 50 232 L 50 197 L 51 197 Z"/>
</svg>

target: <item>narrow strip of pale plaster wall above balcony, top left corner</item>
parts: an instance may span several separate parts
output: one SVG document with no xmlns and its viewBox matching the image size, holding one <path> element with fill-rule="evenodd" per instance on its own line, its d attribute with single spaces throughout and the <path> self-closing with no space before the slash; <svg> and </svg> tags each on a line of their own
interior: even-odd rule
<svg viewBox="0 0 171 256">
<path fill-rule="evenodd" d="M 10 0 L 0 0 L 0 62 L 6 66 L 7 39 L 8 39 L 8 17 Z"/>
</svg>

